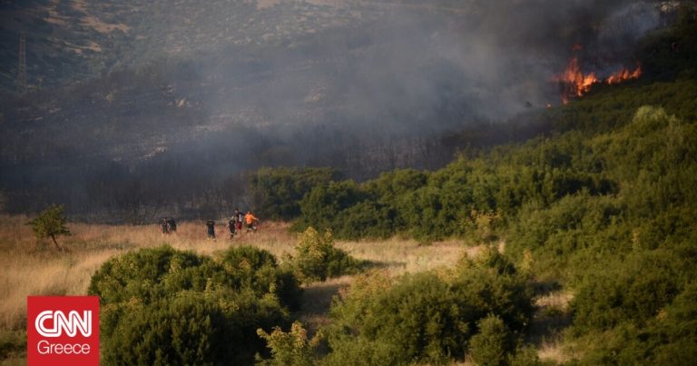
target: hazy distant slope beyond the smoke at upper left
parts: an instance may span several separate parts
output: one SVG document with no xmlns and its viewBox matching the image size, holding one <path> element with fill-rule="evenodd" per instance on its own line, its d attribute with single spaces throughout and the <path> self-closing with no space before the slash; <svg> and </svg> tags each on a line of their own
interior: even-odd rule
<svg viewBox="0 0 697 366">
<path fill-rule="evenodd" d="M 278 42 L 360 17 L 341 6 L 274 3 L 6 2 L 0 9 L 2 88 L 15 89 L 21 32 L 27 39 L 28 84 L 36 88 L 72 84 L 163 57 L 186 59 L 224 47 Z"/>
</svg>

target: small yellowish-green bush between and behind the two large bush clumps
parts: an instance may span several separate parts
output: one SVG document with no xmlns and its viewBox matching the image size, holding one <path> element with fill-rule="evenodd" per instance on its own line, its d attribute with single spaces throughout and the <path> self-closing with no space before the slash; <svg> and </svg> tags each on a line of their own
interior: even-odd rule
<svg viewBox="0 0 697 366">
<path fill-rule="evenodd" d="M 355 273 L 362 267 L 347 252 L 334 247 L 331 232 L 321 234 L 311 227 L 299 234 L 295 256 L 289 262 L 304 283 Z"/>
</svg>

